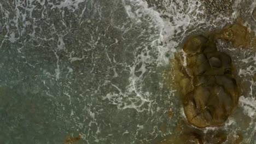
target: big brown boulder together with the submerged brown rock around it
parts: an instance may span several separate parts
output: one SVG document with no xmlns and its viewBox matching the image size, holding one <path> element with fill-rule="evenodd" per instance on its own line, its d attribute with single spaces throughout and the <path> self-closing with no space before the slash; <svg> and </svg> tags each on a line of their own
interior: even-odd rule
<svg viewBox="0 0 256 144">
<path fill-rule="evenodd" d="M 249 110 L 247 114 L 254 115 L 256 37 L 251 30 L 246 21 L 238 18 L 222 29 L 185 40 L 183 52 L 177 52 L 175 58 L 170 59 L 167 71 L 171 73 L 166 73 L 170 76 L 167 76 L 170 85 L 177 89 L 176 95 L 182 96 L 184 111 L 176 115 L 184 122 L 158 144 L 255 141 L 242 132 L 245 129 L 243 131 L 254 135 L 253 128 L 248 129 L 251 120 L 241 109 L 245 106 Z"/>
</svg>

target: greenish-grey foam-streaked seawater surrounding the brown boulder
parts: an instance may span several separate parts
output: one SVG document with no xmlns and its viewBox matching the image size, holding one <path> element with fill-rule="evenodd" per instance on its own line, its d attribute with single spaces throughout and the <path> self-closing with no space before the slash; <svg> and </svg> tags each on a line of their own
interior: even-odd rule
<svg viewBox="0 0 256 144">
<path fill-rule="evenodd" d="M 235 1 L 231 16 L 211 17 L 195 0 L 0 0 L 0 143 L 79 134 L 77 143 L 157 143 L 174 134 L 184 115 L 163 73 L 169 59 L 188 35 L 241 15 L 255 31 L 255 4 Z M 254 144 L 256 53 L 226 51 L 247 93 L 224 128 Z"/>
</svg>

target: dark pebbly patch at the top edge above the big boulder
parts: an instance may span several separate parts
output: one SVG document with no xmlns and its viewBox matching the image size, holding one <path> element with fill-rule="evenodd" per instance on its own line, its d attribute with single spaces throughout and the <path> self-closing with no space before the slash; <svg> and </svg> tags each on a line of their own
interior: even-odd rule
<svg viewBox="0 0 256 144">
<path fill-rule="evenodd" d="M 230 15 L 233 13 L 234 0 L 201 0 L 208 15 Z"/>
</svg>

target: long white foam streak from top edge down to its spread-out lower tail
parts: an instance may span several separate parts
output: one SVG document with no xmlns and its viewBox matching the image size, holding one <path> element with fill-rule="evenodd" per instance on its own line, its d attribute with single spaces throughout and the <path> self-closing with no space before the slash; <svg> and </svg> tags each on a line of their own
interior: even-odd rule
<svg viewBox="0 0 256 144">
<path fill-rule="evenodd" d="M 131 108 L 141 112 L 145 110 L 141 106 L 147 103 L 149 106 L 147 111 L 152 112 L 150 108 L 151 103 L 154 103 L 150 99 L 152 95 L 142 91 L 146 72 L 153 73 L 152 70 L 147 68 L 147 65 L 156 63 L 161 66 L 168 64 L 170 57 L 173 57 L 173 53 L 179 51 L 179 45 L 187 35 L 188 29 L 195 29 L 190 30 L 193 32 L 196 29 L 198 30 L 196 27 L 201 24 L 205 25 L 205 27 L 216 27 L 217 25 L 214 25 L 214 22 L 206 22 L 206 18 L 203 17 L 203 11 L 200 9 L 202 5 L 199 1 L 189 0 L 187 3 L 182 1 L 162 1 L 162 3 L 165 3 L 164 10 L 149 7 L 148 3 L 142 0 L 123 0 L 126 14 L 133 22 L 133 26 L 147 23 L 149 29 L 154 28 L 158 33 L 149 35 L 148 40 L 152 41 L 150 45 L 136 47 L 137 50 L 141 50 L 141 53 L 135 53 L 136 58 L 133 64 L 127 65 L 130 71 L 130 84 L 126 87 L 126 90 L 122 91 L 115 87 L 119 93 L 108 93 L 103 98 L 112 101 L 111 103 L 117 105 L 119 109 Z M 188 7 L 186 8 L 185 5 Z M 171 17 L 172 21 L 168 18 L 163 18 L 162 15 Z M 229 20 L 227 17 L 218 17 L 216 23 L 223 19 Z M 224 24 L 222 23 L 222 25 Z M 125 30 L 125 32 L 128 30 Z M 153 49 L 149 49 L 149 46 Z M 157 57 L 150 55 L 150 52 L 155 53 Z M 167 54 L 169 56 L 166 56 Z M 131 97 L 131 95 L 133 96 Z M 127 101 L 124 102 L 123 99 L 127 97 L 131 97 L 129 98 L 129 104 Z"/>
</svg>

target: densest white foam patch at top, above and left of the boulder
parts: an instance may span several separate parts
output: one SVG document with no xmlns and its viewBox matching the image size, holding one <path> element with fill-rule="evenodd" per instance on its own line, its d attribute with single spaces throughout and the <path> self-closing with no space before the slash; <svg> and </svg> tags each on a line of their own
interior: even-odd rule
<svg viewBox="0 0 256 144">
<path fill-rule="evenodd" d="M 206 21 L 199 1 L 189 0 L 187 3 L 161 1 L 159 3 L 165 3 L 164 10 L 156 11 L 153 7 L 149 8 L 147 2 L 141 0 L 124 1 L 126 13 L 133 21 L 142 22 L 142 19 L 148 16 L 152 22 L 151 25 L 158 28 L 159 38 L 152 41 L 152 46 L 156 48 L 155 53 L 158 53 L 158 65 L 168 63 L 169 58 L 179 49 L 178 46 L 184 40 L 188 29 L 192 28 L 192 31 L 195 31 L 198 30 L 197 26 L 200 24 L 205 27 L 216 27 L 216 23 L 219 21 L 230 21 L 225 16 L 216 17 L 214 22 Z M 185 5 L 188 7 L 186 8 Z M 172 21 L 169 18 L 163 18 L 162 15 L 170 17 Z M 234 16 L 236 15 L 234 14 Z M 223 23 L 222 25 L 224 26 Z M 166 57 L 166 53 L 169 53 L 170 57 Z"/>
</svg>

